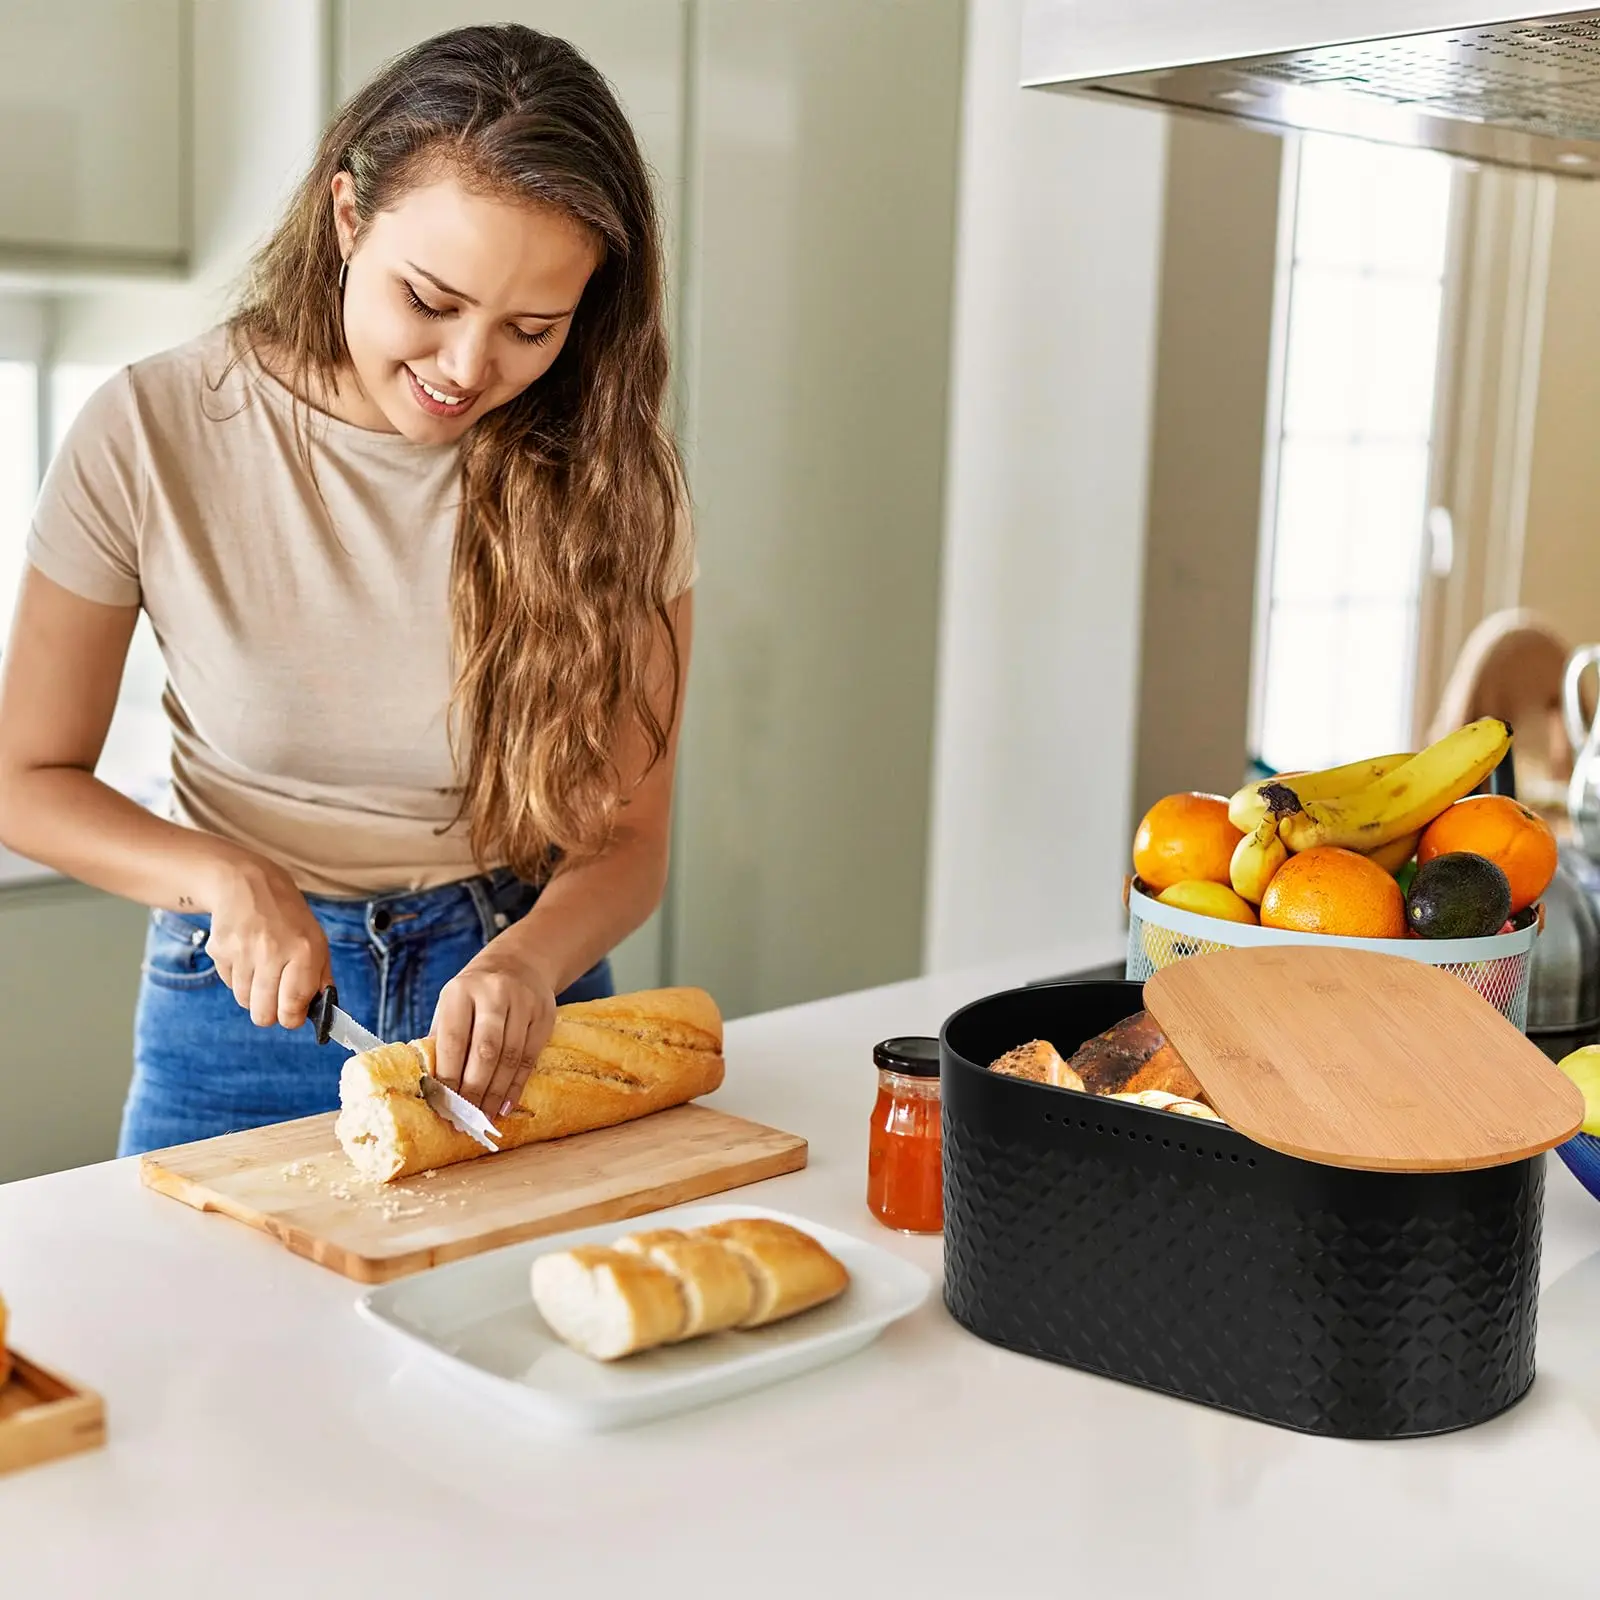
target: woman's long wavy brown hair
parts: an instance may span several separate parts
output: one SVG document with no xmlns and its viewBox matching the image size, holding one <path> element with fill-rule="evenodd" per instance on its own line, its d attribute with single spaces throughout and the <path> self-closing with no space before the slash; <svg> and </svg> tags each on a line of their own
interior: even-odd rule
<svg viewBox="0 0 1600 1600">
<path fill-rule="evenodd" d="M 541 878 L 603 848 L 626 803 L 618 750 L 667 750 L 678 659 L 666 606 L 682 470 L 666 421 L 667 338 L 650 174 L 605 78 L 514 24 L 440 34 L 390 61 L 334 117 L 251 264 L 235 341 L 302 398 L 347 366 L 334 174 L 358 227 L 442 173 L 554 206 L 602 261 L 549 371 L 462 446 L 451 563 L 451 747 L 480 866 Z M 672 707 L 648 664 L 666 637 Z M 458 821 L 459 821 L 458 816 Z"/>
</svg>

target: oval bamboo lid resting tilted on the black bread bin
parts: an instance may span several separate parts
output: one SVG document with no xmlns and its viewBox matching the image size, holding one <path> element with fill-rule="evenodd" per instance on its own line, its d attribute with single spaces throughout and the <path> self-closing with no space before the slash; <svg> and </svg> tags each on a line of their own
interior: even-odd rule
<svg viewBox="0 0 1600 1600">
<path fill-rule="evenodd" d="M 1501 1166 L 1584 1117 L 1576 1085 L 1494 1006 L 1405 957 L 1218 950 L 1155 973 L 1144 1003 L 1219 1117 L 1328 1166 Z"/>
</svg>

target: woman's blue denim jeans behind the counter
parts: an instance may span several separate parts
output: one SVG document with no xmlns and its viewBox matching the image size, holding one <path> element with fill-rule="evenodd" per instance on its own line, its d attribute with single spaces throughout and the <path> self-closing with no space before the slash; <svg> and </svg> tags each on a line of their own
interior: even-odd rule
<svg viewBox="0 0 1600 1600">
<path fill-rule="evenodd" d="M 307 899 L 328 934 L 339 1005 L 381 1038 L 421 1038 L 440 989 L 538 896 L 499 870 L 421 894 Z M 318 1045 L 309 1027 L 256 1027 L 205 952 L 210 925 L 210 917 L 150 912 L 118 1155 L 339 1104 L 346 1051 Z M 602 960 L 558 998 L 611 992 L 611 963 Z"/>
</svg>

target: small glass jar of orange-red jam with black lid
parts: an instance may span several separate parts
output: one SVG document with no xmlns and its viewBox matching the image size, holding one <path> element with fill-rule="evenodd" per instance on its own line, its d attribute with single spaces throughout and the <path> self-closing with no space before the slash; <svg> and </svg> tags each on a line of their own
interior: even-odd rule
<svg viewBox="0 0 1600 1600">
<path fill-rule="evenodd" d="M 867 1146 L 867 1208 L 901 1234 L 944 1229 L 939 1042 L 886 1038 L 872 1051 L 878 1099 Z"/>
</svg>

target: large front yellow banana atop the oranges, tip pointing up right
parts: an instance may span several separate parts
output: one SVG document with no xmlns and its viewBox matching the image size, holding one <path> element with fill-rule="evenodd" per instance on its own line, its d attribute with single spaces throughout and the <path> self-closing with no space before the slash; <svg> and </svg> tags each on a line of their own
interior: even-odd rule
<svg viewBox="0 0 1600 1600">
<path fill-rule="evenodd" d="M 1510 728 L 1480 717 L 1458 728 L 1355 794 L 1309 800 L 1301 781 L 1267 786 L 1267 802 L 1294 805 L 1278 818 L 1278 837 L 1293 851 L 1341 845 L 1371 854 L 1427 827 L 1446 806 L 1488 778 L 1510 749 Z"/>
</svg>

